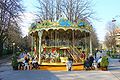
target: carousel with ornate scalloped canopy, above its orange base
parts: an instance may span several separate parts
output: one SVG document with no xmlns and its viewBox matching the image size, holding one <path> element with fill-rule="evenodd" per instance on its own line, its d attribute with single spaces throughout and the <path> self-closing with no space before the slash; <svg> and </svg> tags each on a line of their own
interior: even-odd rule
<svg viewBox="0 0 120 80">
<path fill-rule="evenodd" d="M 76 24 L 63 18 L 57 22 L 32 23 L 29 31 L 31 45 L 40 66 L 65 66 L 68 58 L 72 58 L 73 66 L 82 64 L 82 51 L 92 53 L 91 31 L 86 26 L 91 27 L 84 20 Z"/>
</svg>

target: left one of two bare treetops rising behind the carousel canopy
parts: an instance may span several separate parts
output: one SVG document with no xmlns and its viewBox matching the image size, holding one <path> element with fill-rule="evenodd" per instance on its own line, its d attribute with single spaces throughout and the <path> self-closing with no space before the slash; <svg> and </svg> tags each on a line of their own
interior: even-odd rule
<svg viewBox="0 0 120 80">
<path fill-rule="evenodd" d="M 55 18 L 55 3 L 54 0 L 38 0 L 39 9 L 37 16 L 41 20 L 51 20 L 53 21 Z"/>
</svg>

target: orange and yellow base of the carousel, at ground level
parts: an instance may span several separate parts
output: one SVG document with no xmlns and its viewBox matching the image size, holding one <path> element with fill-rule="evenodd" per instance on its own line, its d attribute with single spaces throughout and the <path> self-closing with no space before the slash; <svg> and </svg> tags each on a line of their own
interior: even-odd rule
<svg viewBox="0 0 120 80">
<path fill-rule="evenodd" d="M 50 71 L 67 71 L 66 64 L 65 63 L 42 63 L 39 66 L 40 70 L 50 70 Z M 83 64 L 82 63 L 73 63 L 72 70 L 73 71 L 79 71 L 83 70 Z"/>
</svg>

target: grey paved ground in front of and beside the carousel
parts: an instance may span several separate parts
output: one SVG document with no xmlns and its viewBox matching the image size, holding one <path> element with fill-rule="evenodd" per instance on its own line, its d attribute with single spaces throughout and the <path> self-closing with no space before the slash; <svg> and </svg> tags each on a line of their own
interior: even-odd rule
<svg viewBox="0 0 120 80">
<path fill-rule="evenodd" d="M 0 80 L 120 80 L 120 63 L 109 59 L 109 71 L 13 71 L 10 62 L 0 65 Z"/>
</svg>

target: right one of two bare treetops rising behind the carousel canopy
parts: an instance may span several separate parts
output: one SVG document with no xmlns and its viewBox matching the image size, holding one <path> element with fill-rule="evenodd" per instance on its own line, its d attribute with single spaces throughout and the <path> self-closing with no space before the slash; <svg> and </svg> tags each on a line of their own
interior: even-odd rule
<svg viewBox="0 0 120 80">
<path fill-rule="evenodd" d="M 94 13 L 90 0 L 62 0 L 63 13 L 70 21 L 90 18 Z"/>
</svg>

